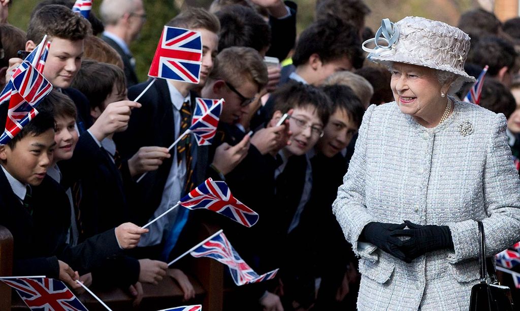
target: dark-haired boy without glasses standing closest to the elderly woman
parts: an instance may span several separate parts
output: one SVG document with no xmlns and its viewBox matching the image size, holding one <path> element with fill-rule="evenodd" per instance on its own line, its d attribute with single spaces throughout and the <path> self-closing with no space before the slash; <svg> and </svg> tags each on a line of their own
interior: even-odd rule
<svg viewBox="0 0 520 311">
<path fill-rule="evenodd" d="M 319 309 L 348 309 L 353 306 L 344 305 L 345 295 L 336 299 L 336 293 L 346 293 L 343 288 L 344 278 L 348 280 L 346 286 L 350 285 L 350 289 L 358 285 L 356 269 L 352 268 L 357 266 L 357 260 L 332 214 L 332 203 L 337 194 L 335 189 L 341 185 L 347 172 L 342 151 L 357 133 L 365 109 L 354 91 L 347 86 L 336 84 L 322 89 L 331 98 L 330 118 L 324 128 L 323 137 L 314 148 L 315 156 L 310 159 L 313 188 L 300 224 L 295 230 L 297 239 L 293 242 L 293 253 L 298 256 L 303 255 L 305 250 L 311 250 L 306 253 L 303 261 L 309 267 L 316 267 L 316 270 L 309 268 L 302 274 L 313 283 L 316 278 L 321 278 L 320 286 L 316 289 L 318 297 L 315 306 Z M 318 226 L 319 230 L 316 230 Z M 335 256 L 325 258 L 323 254 L 332 248 L 338 250 Z"/>
</svg>

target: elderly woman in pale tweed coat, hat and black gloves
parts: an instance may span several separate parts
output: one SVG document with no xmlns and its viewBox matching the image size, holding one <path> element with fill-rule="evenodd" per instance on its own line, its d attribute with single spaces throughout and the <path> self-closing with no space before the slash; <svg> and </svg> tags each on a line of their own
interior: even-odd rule
<svg viewBox="0 0 520 311">
<path fill-rule="evenodd" d="M 506 121 L 448 96 L 469 37 L 419 17 L 384 20 L 369 59 L 392 73 L 395 102 L 368 108 L 333 210 L 361 257 L 360 310 L 467 310 L 488 254 L 520 240 L 520 183 Z M 366 43 L 365 43 L 366 44 Z"/>
</svg>

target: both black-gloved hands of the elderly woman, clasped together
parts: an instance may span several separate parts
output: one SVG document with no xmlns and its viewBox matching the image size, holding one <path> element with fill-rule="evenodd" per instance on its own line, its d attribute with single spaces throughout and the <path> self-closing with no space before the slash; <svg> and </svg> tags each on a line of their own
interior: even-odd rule
<svg viewBox="0 0 520 311">
<path fill-rule="evenodd" d="M 447 225 L 419 225 L 407 220 L 401 224 L 370 222 L 361 232 L 360 241 L 408 263 L 430 251 L 453 249 Z"/>
</svg>

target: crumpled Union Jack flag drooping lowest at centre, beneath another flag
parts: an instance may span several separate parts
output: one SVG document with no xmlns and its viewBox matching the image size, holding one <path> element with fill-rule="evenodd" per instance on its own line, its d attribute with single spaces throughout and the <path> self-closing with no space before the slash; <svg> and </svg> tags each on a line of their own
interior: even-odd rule
<svg viewBox="0 0 520 311">
<path fill-rule="evenodd" d="M 231 246 L 231 243 L 229 243 L 226 235 L 224 235 L 224 232 L 194 249 L 190 254 L 195 258 L 213 258 L 227 265 L 233 281 L 235 281 L 235 284 L 238 286 L 270 280 L 274 278 L 278 272 L 278 269 L 276 269 L 266 274 L 258 275 L 245 263 L 240 255 L 238 255 L 237 251 Z"/>
</svg>

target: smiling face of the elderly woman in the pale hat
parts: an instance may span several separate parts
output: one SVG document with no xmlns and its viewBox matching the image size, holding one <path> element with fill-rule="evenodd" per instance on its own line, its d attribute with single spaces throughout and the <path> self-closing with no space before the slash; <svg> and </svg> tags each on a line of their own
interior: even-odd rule
<svg viewBox="0 0 520 311">
<path fill-rule="evenodd" d="M 441 86 L 435 69 L 394 63 L 391 73 L 390 86 L 404 114 L 415 117 L 419 123 L 423 123 L 421 120 L 427 122 L 437 114 L 440 118 L 446 107 L 446 97 L 441 97 L 440 93 L 446 93 L 449 86 Z"/>
</svg>

